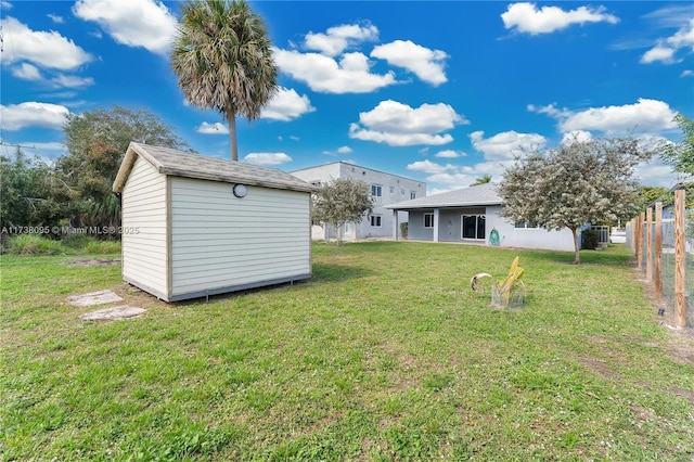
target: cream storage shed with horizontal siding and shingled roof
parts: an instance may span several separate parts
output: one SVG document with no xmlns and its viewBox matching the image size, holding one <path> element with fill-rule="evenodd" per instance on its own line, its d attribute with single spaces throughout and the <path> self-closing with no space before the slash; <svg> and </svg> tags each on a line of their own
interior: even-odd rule
<svg viewBox="0 0 694 462">
<path fill-rule="evenodd" d="M 166 301 L 311 277 L 313 187 L 275 168 L 130 143 L 123 278 Z"/>
</svg>

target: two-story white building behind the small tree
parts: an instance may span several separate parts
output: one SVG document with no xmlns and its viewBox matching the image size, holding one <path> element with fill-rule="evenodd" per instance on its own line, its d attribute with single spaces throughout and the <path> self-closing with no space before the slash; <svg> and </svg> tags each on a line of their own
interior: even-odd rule
<svg viewBox="0 0 694 462">
<path fill-rule="evenodd" d="M 340 229 L 340 239 L 345 241 L 367 238 L 393 238 L 393 210 L 383 207 L 396 202 L 426 196 L 426 183 L 423 181 L 360 167 L 346 162 L 334 162 L 304 168 L 291 174 L 316 185 L 337 178 L 352 178 L 371 185 L 371 195 L 374 198 L 373 213 L 364 217 L 360 223 L 350 222 L 345 226 L 344 230 Z M 408 220 L 407 213 L 398 214 L 398 222 Z M 399 233 L 400 231 L 398 230 Z M 335 230 L 332 227 L 313 226 L 311 236 L 314 240 L 335 239 Z"/>
</svg>

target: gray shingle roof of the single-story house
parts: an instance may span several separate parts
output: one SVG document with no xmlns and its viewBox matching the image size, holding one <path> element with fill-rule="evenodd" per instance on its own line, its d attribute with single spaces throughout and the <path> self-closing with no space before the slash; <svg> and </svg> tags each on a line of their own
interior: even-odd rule
<svg viewBox="0 0 694 462">
<path fill-rule="evenodd" d="M 415 208 L 472 207 L 477 205 L 498 205 L 503 201 L 497 194 L 497 184 L 485 183 L 461 190 L 449 191 L 411 201 L 384 205 L 384 208 L 407 210 Z"/>
</svg>

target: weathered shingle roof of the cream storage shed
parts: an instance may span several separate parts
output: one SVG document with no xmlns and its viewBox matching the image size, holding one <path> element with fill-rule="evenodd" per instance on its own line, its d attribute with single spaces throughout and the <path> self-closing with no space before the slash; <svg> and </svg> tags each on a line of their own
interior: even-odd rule
<svg viewBox="0 0 694 462">
<path fill-rule="evenodd" d="M 291 191 L 314 190 L 314 187 L 306 181 L 277 168 L 131 142 L 113 183 L 115 192 L 123 191 L 138 155 L 152 164 L 162 175 Z"/>
</svg>

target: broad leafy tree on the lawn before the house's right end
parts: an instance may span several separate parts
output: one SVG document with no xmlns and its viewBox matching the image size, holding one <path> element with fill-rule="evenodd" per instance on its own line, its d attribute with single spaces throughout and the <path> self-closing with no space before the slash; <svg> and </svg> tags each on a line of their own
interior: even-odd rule
<svg viewBox="0 0 694 462">
<path fill-rule="evenodd" d="M 575 139 L 556 150 L 532 151 L 504 172 L 499 185 L 503 215 L 547 230 L 568 228 L 580 264 L 578 230 L 633 215 L 639 201 L 633 169 L 653 154 L 628 138 Z"/>
</svg>

